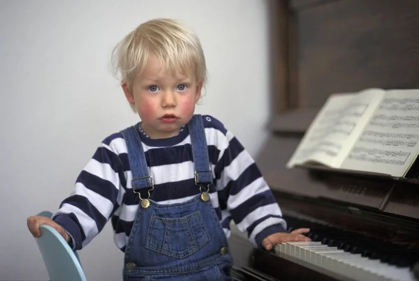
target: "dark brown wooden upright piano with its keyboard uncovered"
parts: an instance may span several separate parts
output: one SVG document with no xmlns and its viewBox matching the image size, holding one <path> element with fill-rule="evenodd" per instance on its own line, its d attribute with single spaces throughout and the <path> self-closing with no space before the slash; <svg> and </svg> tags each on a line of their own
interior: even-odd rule
<svg viewBox="0 0 419 281">
<path fill-rule="evenodd" d="M 268 0 L 270 137 L 256 162 L 288 229 L 311 243 L 255 248 L 232 226 L 235 280 L 419 280 L 419 160 L 404 179 L 286 169 L 331 93 L 419 88 L 419 0 Z"/>
</svg>

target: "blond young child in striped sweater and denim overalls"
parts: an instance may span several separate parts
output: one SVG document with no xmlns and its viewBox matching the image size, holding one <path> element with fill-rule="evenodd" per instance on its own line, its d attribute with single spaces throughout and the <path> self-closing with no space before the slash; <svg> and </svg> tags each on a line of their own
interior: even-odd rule
<svg viewBox="0 0 419 281">
<path fill-rule="evenodd" d="M 111 220 L 124 280 L 230 280 L 231 220 L 267 250 L 309 241 L 302 235 L 309 229 L 286 232 L 270 188 L 232 132 L 194 114 L 207 70 L 192 31 L 150 20 L 114 57 L 141 121 L 103 140 L 52 220 L 28 218 L 31 234 L 50 225 L 80 250 Z"/>
</svg>

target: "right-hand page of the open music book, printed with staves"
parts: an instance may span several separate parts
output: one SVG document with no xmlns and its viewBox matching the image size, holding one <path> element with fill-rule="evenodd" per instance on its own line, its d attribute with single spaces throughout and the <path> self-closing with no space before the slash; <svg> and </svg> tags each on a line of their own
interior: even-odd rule
<svg viewBox="0 0 419 281">
<path fill-rule="evenodd" d="M 388 91 L 341 167 L 405 176 L 418 142 L 419 90 Z"/>
</svg>

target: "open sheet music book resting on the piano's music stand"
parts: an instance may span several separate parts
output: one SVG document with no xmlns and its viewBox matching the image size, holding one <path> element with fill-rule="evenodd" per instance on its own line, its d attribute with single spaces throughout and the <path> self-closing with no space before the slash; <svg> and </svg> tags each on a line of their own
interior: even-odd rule
<svg viewBox="0 0 419 281">
<path fill-rule="evenodd" d="M 419 154 L 419 89 L 365 89 L 332 94 L 286 167 L 336 169 L 404 177 Z"/>
</svg>

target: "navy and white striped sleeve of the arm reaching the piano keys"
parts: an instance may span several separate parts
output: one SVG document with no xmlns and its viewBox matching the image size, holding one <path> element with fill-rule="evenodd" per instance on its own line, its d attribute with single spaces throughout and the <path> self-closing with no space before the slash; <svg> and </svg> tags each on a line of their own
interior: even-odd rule
<svg viewBox="0 0 419 281">
<path fill-rule="evenodd" d="M 286 231 L 286 222 L 256 162 L 233 133 L 224 129 L 224 135 L 215 167 L 221 211 L 226 208 L 237 228 L 261 248 L 264 238 Z"/>
</svg>

